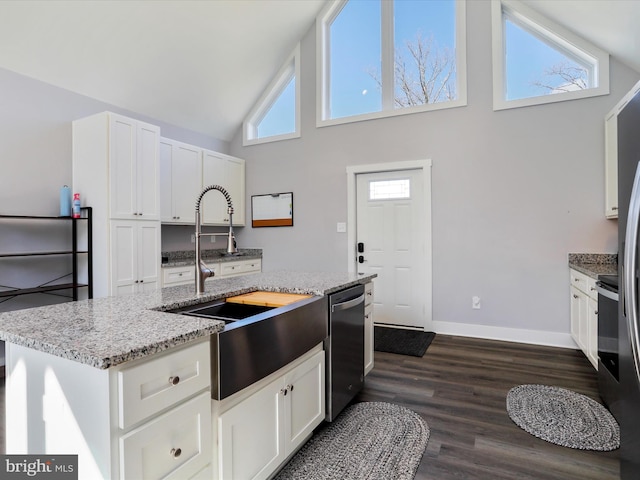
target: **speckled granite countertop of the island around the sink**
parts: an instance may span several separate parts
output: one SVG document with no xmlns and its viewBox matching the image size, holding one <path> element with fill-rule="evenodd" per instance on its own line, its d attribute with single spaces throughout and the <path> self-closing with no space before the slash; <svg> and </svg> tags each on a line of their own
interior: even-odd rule
<svg viewBox="0 0 640 480">
<path fill-rule="evenodd" d="M 224 322 L 174 313 L 179 307 L 256 290 L 327 295 L 376 275 L 355 273 L 256 273 L 209 280 L 197 296 L 193 285 L 0 313 L 0 340 L 105 369 L 209 336 Z"/>
</svg>

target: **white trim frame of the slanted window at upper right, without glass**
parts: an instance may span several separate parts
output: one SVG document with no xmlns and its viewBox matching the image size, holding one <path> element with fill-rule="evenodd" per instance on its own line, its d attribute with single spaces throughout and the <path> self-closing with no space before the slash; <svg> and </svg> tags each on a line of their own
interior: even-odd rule
<svg viewBox="0 0 640 480">
<path fill-rule="evenodd" d="M 596 77 L 598 86 L 585 90 L 507 100 L 505 70 L 506 40 L 504 34 L 505 23 L 502 16 L 503 11 L 514 19 L 514 23 L 524 25 L 526 29 L 534 31 L 536 35 L 551 42 L 555 48 L 565 50 L 570 55 L 578 57 L 588 63 L 593 63 L 594 76 Z M 494 111 L 609 94 L 609 54 L 587 40 L 571 33 L 552 20 L 540 15 L 523 3 L 517 0 L 491 0 L 491 32 Z"/>
</svg>

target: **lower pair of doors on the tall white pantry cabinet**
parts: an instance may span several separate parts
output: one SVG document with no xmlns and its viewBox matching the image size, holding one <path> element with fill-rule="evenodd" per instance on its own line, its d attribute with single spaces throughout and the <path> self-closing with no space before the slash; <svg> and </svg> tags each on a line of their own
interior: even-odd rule
<svg viewBox="0 0 640 480">
<path fill-rule="evenodd" d="M 157 222 L 113 220 L 111 295 L 158 288 L 160 226 Z"/>
</svg>

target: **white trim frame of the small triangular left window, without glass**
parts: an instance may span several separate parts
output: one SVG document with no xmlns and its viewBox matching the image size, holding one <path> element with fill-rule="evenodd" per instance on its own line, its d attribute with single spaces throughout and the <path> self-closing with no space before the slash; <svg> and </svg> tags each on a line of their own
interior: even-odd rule
<svg viewBox="0 0 640 480">
<path fill-rule="evenodd" d="M 283 133 L 280 135 L 257 137 L 258 125 L 264 119 L 275 102 L 280 98 L 280 95 L 284 92 L 292 79 L 295 79 L 296 82 L 294 94 L 295 130 L 293 132 Z M 300 44 L 298 43 L 242 123 L 242 145 L 246 147 L 248 145 L 300 138 L 300 136 Z"/>
</svg>

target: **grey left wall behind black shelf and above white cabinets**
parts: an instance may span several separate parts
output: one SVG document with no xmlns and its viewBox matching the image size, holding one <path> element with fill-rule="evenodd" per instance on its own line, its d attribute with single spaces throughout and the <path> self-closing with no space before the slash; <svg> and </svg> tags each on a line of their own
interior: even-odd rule
<svg viewBox="0 0 640 480">
<path fill-rule="evenodd" d="M 71 185 L 71 121 L 105 110 L 158 125 L 169 138 L 228 153 L 227 142 L 0 69 L 0 214 L 59 215 L 60 187 Z M 0 253 L 70 248 L 68 225 L 39 225 L 0 222 Z M 190 234 L 182 236 L 189 242 Z M 70 271 L 68 257 L 4 259 L 0 285 L 26 288 Z M 0 312 L 63 300 L 21 296 L 0 302 Z"/>
</svg>

